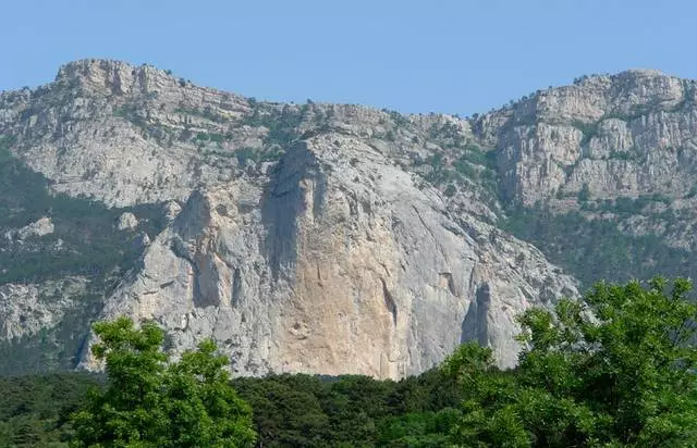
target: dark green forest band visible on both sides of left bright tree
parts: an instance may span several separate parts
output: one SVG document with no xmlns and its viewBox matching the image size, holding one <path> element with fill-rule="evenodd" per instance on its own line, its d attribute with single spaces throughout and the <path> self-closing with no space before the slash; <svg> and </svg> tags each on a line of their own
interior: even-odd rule
<svg viewBox="0 0 697 448">
<path fill-rule="evenodd" d="M 437 369 L 400 382 L 271 375 L 232 385 L 254 410 L 260 447 L 437 447 L 460 416 L 460 390 Z M 0 377 L 0 447 L 69 446 L 70 414 L 95 386 L 103 378 L 82 373 Z"/>
</svg>

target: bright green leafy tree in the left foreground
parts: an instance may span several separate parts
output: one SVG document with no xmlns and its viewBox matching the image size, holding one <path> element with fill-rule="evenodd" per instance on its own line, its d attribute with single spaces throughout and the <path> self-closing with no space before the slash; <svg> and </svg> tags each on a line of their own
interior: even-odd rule
<svg viewBox="0 0 697 448">
<path fill-rule="evenodd" d="M 246 447 L 255 433 L 250 408 L 224 371 L 212 341 L 175 363 L 162 351 L 164 332 L 126 318 L 94 325 L 93 347 L 108 382 L 73 415 L 74 447 Z"/>
</svg>

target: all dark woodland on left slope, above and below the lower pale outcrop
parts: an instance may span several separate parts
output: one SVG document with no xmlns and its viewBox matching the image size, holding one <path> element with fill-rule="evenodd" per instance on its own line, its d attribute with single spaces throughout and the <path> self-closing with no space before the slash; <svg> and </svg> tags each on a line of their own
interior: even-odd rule
<svg viewBox="0 0 697 448">
<path fill-rule="evenodd" d="M 87 198 L 49 191 L 49 181 L 29 170 L 10 148 L 14 137 L 0 138 L 0 235 L 42 216 L 54 225 L 50 235 L 25 238 L 22 244 L 0 239 L 0 283 L 39 283 L 85 276 L 89 284 L 60 325 L 44 335 L 0 343 L 0 374 L 73 369 L 100 301 L 143 253 L 139 235 L 150 238 L 166 225 L 161 204 L 108 208 Z M 119 215 L 130 211 L 139 221 L 133 231 L 119 231 Z M 41 300 L 53 300 L 41 297 Z"/>
</svg>

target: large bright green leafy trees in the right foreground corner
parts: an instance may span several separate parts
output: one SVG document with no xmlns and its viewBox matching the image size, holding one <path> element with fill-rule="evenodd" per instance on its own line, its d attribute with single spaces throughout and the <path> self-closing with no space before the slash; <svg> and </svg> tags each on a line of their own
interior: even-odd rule
<svg viewBox="0 0 697 448">
<path fill-rule="evenodd" d="M 521 316 L 513 372 L 463 346 L 444 369 L 467 387 L 454 441 L 509 447 L 697 446 L 692 285 L 600 283 Z"/>
</svg>

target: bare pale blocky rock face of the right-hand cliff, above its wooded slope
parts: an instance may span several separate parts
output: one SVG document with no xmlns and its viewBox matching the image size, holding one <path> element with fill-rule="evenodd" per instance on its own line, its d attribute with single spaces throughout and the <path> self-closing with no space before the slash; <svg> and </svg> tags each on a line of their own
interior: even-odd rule
<svg viewBox="0 0 697 448">
<path fill-rule="evenodd" d="M 592 76 L 482 115 L 477 135 L 499 151 L 501 187 L 525 204 L 574 195 L 683 196 L 697 154 L 695 82 L 655 71 Z"/>
</svg>

